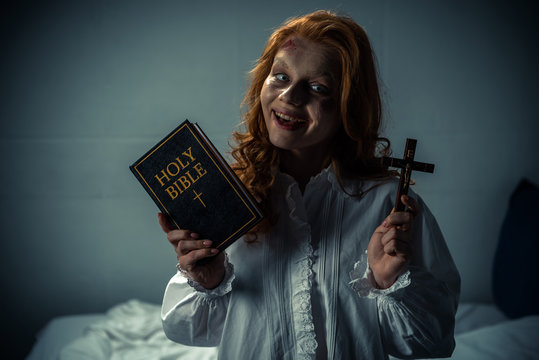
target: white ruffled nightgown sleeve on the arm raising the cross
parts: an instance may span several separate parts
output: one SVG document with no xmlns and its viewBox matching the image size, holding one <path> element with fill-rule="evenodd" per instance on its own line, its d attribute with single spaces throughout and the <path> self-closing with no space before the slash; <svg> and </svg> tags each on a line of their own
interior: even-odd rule
<svg viewBox="0 0 539 360">
<path fill-rule="evenodd" d="M 422 212 L 414 224 L 414 258 L 388 289 L 373 284 L 367 254 L 350 272 L 350 285 L 376 301 L 385 352 L 398 358 L 448 357 L 455 347 L 454 325 L 460 276 L 438 224 L 418 199 Z"/>
</svg>

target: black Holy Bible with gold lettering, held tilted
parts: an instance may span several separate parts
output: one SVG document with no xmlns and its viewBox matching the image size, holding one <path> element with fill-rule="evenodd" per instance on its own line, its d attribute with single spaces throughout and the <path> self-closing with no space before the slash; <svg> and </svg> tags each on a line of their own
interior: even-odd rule
<svg viewBox="0 0 539 360">
<path fill-rule="evenodd" d="M 129 167 L 178 229 L 224 250 L 259 223 L 258 203 L 202 129 L 185 120 Z"/>
</svg>

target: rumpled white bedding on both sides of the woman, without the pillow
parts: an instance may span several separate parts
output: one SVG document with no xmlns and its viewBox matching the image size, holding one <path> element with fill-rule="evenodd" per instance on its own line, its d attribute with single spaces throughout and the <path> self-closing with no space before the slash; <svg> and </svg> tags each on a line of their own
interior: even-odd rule
<svg viewBox="0 0 539 360">
<path fill-rule="evenodd" d="M 55 318 L 38 333 L 27 359 L 217 358 L 216 348 L 168 340 L 159 310 L 157 304 L 130 300 L 103 314 Z M 463 303 L 456 320 L 451 359 L 539 359 L 539 316 L 509 319 L 494 304 Z"/>
</svg>

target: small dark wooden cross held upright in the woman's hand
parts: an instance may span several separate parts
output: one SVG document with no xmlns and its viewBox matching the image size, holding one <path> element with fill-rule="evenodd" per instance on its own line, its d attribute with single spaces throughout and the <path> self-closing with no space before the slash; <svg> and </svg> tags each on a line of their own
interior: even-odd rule
<svg viewBox="0 0 539 360">
<path fill-rule="evenodd" d="M 387 156 L 384 156 L 383 158 L 383 164 L 385 166 L 398 167 L 402 169 L 400 173 L 399 189 L 397 190 L 397 199 L 395 201 L 395 211 L 404 211 L 404 204 L 401 201 L 401 196 L 408 194 L 412 170 L 429 173 L 434 172 L 434 164 L 414 161 L 416 145 L 417 140 L 406 139 L 406 148 L 404 149 L 404 157 L 402 159 Z"/>
</svg>

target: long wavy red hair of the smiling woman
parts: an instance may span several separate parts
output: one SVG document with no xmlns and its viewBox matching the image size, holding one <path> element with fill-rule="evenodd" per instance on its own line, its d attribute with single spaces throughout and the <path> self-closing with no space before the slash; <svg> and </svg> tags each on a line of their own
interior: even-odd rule
<svg viewBox="0 0 539 360">
<path fill-rule="evenodd" d="M 339 181 L 343 177 L 378 178 L 389 175 L 381 155 L 389 153 L 389 140 L 379 136 L 382 104 L 374 53 L 365 31 L 349 17 L 316 11 L 292 18 L 270 36 L 250 72 L 250 87 L 243 105 L 244 132 L 234 132 L 233 165 L 241 180 L 269 210 L 273 169 L 279 154 L 269 141 L 262 114 L 260 92 L 275 54 L 295 35 L 321 43 L 336 53 L 341 65 L 340 114 L 342 126 L 329 149 L 329 159 Z"/>
</svg>

